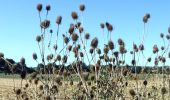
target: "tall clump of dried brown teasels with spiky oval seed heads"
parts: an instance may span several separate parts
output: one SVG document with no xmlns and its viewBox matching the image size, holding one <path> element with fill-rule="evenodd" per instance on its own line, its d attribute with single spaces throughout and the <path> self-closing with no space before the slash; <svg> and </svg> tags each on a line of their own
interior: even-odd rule
<svg viewBox="0 0 170 100">
<path fill-rule="evenodd" d="M 78 12 L 71 12 L 72 23 L 68 23 L 68 34 L 60 32 L 64 18 L 57 16 L 55 20 L 57 28 L 51 29 L 52 21 L 48 19 L 48 15 L 52 7 L 45 6 L 45 16 L 41 15 L 42 8 L 42 4 L 36 7 L 40 20 L 40 34 L 35 39 L 40 57 L 37 53 L 32 54 L 33 60 L 38 64 L 36 71 L 27 74 L 24 58 L 21 58 L 16 65 L 7 61 L 4 54 L 0 53 L 0 62 L 8 64 L 12 74 L 16 66 L 20 66 L 20 87 L 15 86 L 13 78 L 13 93 L 16 99 L 167 100 L 170 98 L 170 68 L 165 66 L 170 58 L 170 28 L 167 35 L 160 34 L 163 46 L 160 48 L 155 44 L 150 51 L 151 56 L 146 57 L 145 36 L 139 44 L 133 42 L 129 51 L 126 47 L 128 42 L 121 37 L 117 41 L 112 40 L 114 27 L 110 22 L 99 24 L 103 37 L 107 37 L 103 48 L 100 48 L 100 38 L 93 37 L 83 24 L 83 14 L 86 10 L 84 4 L 79 6 L 81 16 Z M 144 35 L 149 19 L 150 14 L 145 14 Z M 52 38 L 55 38 L 55 41 Z M 127 53 L 132 56 L 130 64 L 126 59 Z M 140 61 L 143 61 L 142 67 Z M 154 66 L 148 68 L 147 65 L 152 62 Z"/>
</svg>

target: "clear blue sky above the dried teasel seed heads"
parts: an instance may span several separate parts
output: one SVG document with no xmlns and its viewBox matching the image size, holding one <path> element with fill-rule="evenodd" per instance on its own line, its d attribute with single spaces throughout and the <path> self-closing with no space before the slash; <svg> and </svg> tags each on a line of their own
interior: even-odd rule
<svg viewBox="0 0 170 100">
<path fill-rule="evenodd" d="M 162 46 L 159 34 L 168 33 L 170 26 L 170 11 L 168 0 L 1 0 L 0 3 L 0 52 L 6 58 L 19 61 L 26 58 L 28 66 L 36 66 L 32 53 L 38 53 L 35 37 L 40 34 L 38 12 L 36 5 L 42 3 L 45 9 L 51 5 L 49 19 L 51 28 L 56 30 L 55 20 L 58 15 L 63 17 L 60 35 L 67 32 L 69 24 L 73 22 L 71 12 L 79 11 L 79 4 L 84 3 L 84 27 L 91 37 L 97 36 L 103 40 L 100 29 L 101 22 L 110 22 L 115 30 L 112 39 L 117 43 L 118 38 L 126 42 L 126 48 L 131 50 L 132 43 L 140 42 L 139 34 L 143 34 L 142 18 L 150 13 L 147 24 L 147 37 L 144 54 L 148 57 L 152 53 L 154 44 Z M 45 15 L 45 10 L 42 12 Z M 103 42 L 99 42 L 100 46 Z M 128 58 L 128 57 L 127 57 Z"/>
</svg>

